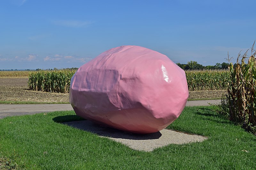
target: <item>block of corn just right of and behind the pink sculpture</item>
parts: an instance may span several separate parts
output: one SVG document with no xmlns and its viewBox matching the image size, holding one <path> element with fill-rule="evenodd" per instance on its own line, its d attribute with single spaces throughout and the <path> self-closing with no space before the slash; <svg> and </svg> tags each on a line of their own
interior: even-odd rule
<svg viewBox="0 0 256 170">
<path fill-rule="evenodd" d="M 227 90 L 229 74 L 227 70 L 186 71 L 188 90 Z"/>
</svg>

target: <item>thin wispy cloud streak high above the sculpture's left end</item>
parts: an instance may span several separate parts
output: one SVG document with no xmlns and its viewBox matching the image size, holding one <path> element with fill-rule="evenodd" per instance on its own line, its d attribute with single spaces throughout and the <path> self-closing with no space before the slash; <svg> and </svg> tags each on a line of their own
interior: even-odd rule
<svg viewBox="0 0 256 170">
<path fill-rule="evenodd" d="M 73 27 L 73 28 L 84 28 L 92 24 L 91 21 L 77 21 L 77 20 L 58 20 L 53 21 L 55 25 L 59 26 L 67 26 L 67 27 Z"/>
</svg>

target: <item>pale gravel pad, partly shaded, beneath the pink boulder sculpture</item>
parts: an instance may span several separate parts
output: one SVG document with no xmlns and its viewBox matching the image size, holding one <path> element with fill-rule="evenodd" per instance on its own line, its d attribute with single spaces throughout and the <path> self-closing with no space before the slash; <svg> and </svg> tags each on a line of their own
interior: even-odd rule
<svg viewBox="0 0 256 170">
<path fill-rule="evenodd" d="M 116 142 L 120 142 L 133 150 L 150 152 L 156 148 L 168 144 L 187 144 L 191 142 L 202 142 L 207 137 L 163 129 L 150 134 L 131 134 L 121 130 L 106 128 L 94 124 L 91 121 L 65 122 L 68 126 L 95 133 L 100 137 L 107 137 Z"/>
</svg>

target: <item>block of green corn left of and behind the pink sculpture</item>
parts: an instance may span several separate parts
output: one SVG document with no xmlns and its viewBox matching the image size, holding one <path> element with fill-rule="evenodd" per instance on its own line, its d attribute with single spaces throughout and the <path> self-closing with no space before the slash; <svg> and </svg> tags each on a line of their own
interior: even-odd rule
<svg viewBox="0 0 256 170">
<path fill-rule="evenodd" d="M 70 80 L 76 70 L 35 71 L 28 76 L 28 89 L 68 93 Z"/>
</svg>

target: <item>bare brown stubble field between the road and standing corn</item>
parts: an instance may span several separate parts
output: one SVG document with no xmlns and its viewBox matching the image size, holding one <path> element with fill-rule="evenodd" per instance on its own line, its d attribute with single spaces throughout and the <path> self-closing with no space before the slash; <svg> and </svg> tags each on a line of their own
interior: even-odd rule
<svg viewBox="0 0 256 170">
<path fill-rule="evenodd" d="M 220 98 L 225 90 L 191 91 L 189 99 Z M 68 102 L 69 94 L 28 90 L 27 77 L 0 77 L 0 101 Z"/>
</svg>

